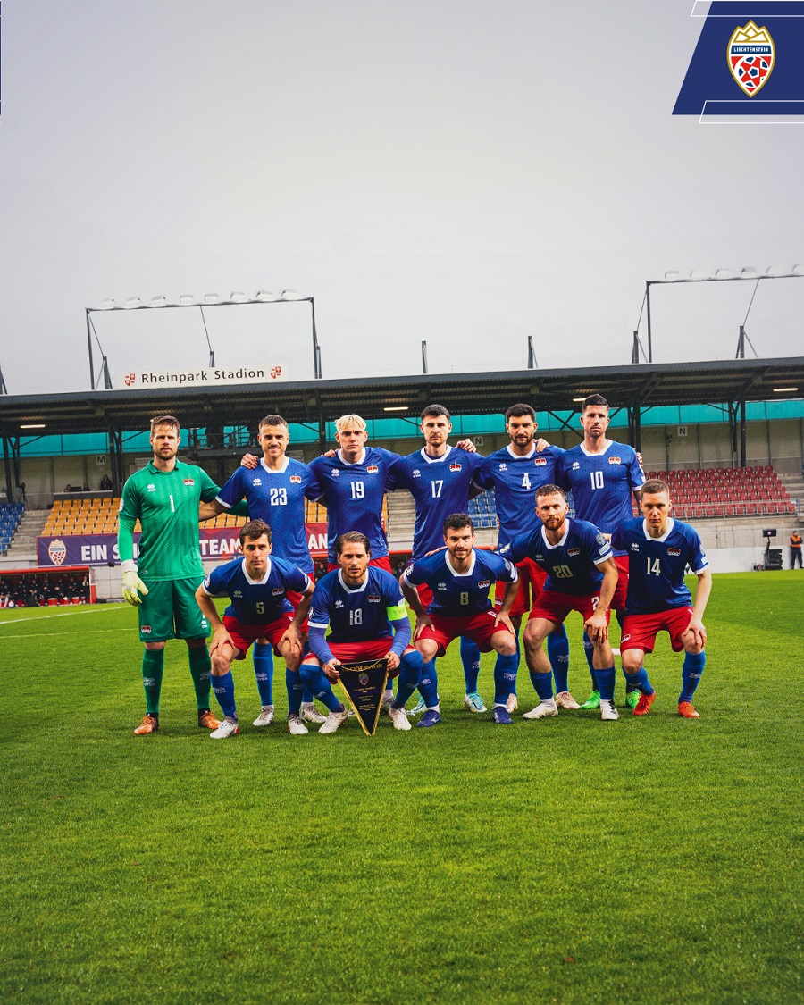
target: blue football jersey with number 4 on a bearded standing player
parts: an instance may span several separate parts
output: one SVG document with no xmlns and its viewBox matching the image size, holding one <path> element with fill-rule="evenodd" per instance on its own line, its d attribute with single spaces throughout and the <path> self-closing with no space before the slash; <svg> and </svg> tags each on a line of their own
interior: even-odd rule
<svg viewBox="0 0 804 1005">
<path fill-rule="evenodd" d="M 499 521 L 497 549 L 538 523 L 536 489 L 556 483 L 556 461 L 563 453 L 559 446 L 549 446 L 538 453 L 533 443 L 524 457 L 514 453 L 509 445 L 485 458 L 474 480 L 481 488 L 494 489 Z"/>
</svg>

